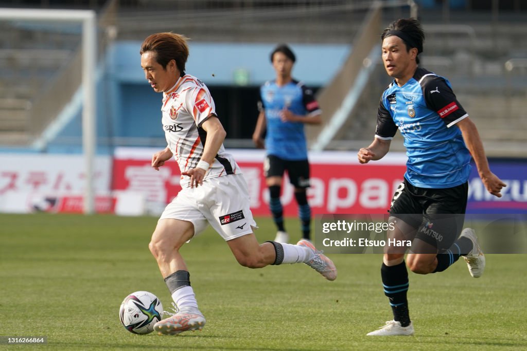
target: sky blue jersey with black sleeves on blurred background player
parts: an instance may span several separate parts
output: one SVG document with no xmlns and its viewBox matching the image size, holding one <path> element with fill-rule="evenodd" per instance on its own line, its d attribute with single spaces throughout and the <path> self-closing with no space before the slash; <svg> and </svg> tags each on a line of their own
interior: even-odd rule
<svg viewBox="0 0 527 351">
<path fill-rule="evenodd" d="M 304 123 L 282 122 L 280 111 L 287 108 L 293 114 L 306 118 L 320 114 L 313 91 L 297 81 L 284 86 L 278 86 L 276 81 L 269 81 L 260 88 L 258 105 L 260 111 L 265 111 L 267 154 L 289 161 L 307 159 Z"/>
</svg>

